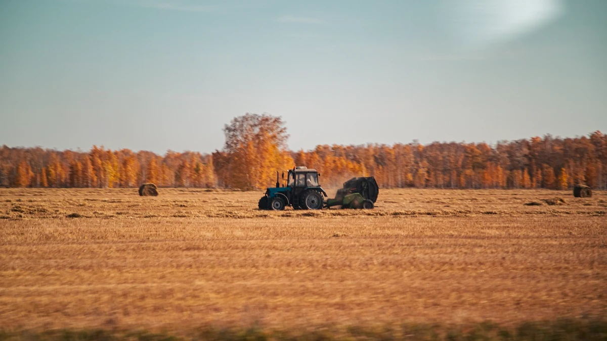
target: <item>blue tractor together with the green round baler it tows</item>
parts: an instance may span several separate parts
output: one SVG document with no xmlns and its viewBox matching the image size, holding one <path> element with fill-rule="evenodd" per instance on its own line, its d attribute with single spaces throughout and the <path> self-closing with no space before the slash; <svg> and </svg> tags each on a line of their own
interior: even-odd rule
<svg viewBox="0 0 607 341">
<path fill-rule="evenodd" d="M 324 200 L 327 192 L 320 187 L 315 169 L 297 166 L 288 170 L 287 184 L 280 186 L 279 173 L 276 172 L 276 187 L 268 187 L 265 195 L 259 199 L 259 209 L 282 211 L 287 206 L 293 209 L 322 209 L 332 206 L 342 208 L 372 209 L 377 200 L 379 188 L 373 177 L 352 178 L 337 191 L 334 199 Z M 285 178 L 283 172 L 282 178 Z"/>
</svg>

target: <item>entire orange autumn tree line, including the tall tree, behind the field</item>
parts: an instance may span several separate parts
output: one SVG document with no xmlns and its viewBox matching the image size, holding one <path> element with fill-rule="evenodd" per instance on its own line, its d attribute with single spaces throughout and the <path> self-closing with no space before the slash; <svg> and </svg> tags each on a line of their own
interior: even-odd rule
<svg viewBox="0 0 607 341">
<path fill-rule="evenodd" d="M 212 154 L 133 152 L 93 146 L 89 152 L 0 148 L 0 186 L 8 187 L 225 187 L 273 186 L 276 170 L 319 170 L 323 186 L 373 176 L 380 187 L 548 188 L 574 184 L 607 188 L 607 135 L 552 135 L 487 143 L 320 145 L 287 149 L 280 117 L 246 114 L 224 128 L 226 142 Z M 281 180 L 282 181 L 282 180 Z"/>
</svg>

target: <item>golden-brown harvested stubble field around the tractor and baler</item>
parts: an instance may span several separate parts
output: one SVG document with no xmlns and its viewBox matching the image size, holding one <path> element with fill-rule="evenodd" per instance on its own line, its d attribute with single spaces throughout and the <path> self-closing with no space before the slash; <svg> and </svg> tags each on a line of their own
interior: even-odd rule
<svg viewBox="0 0 607 341">
<path fill-rule="evenodd" d="M 372 211 L 281 212 L 262 192 L 159 191 L 0 189 L 0 328 L 607 316 L 605 191 L 382 189 Z"/>
</svg>

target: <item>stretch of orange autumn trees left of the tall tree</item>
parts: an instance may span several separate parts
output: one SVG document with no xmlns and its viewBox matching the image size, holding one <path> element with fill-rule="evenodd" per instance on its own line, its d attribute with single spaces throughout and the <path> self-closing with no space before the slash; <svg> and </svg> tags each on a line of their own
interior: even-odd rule
<svg viewBox="0 0 607 341">
<path fill-rule="evenodd" d="M 0 149 L 0 185 L 8 187 L 137 187 L 152 182 L 163 187 L 214 187 L 210 155 L 198 152 L 164 156 L 153 152 L 89 152 L 35 148 Z"/>
</svg>

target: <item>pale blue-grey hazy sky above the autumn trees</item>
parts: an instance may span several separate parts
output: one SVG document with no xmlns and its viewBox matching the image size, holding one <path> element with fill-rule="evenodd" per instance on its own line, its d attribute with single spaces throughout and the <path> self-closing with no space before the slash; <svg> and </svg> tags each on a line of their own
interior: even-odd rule
<svg viewBox="0 0 607 341">
<path fill-rule="evenodd" d="M 607 132 L 605 0 L 0 0 L 0 145 L 290 149 Z"/>
</svg>

